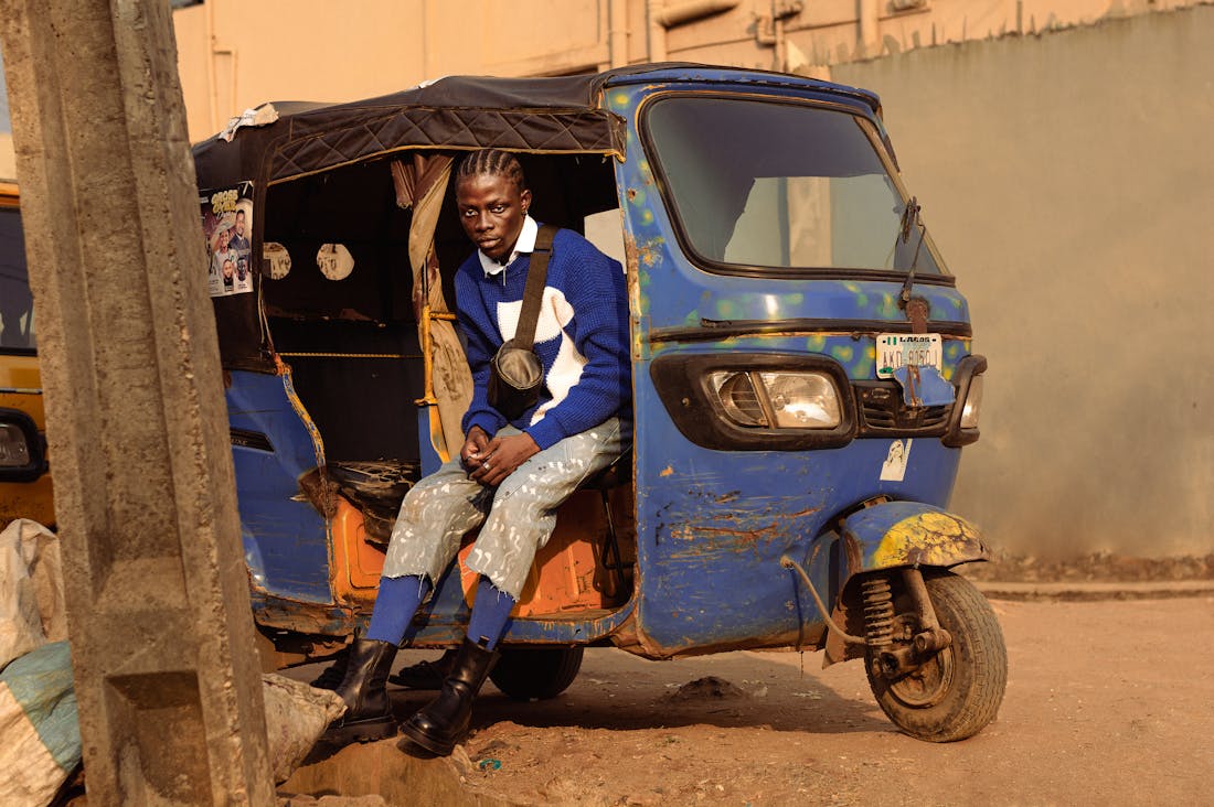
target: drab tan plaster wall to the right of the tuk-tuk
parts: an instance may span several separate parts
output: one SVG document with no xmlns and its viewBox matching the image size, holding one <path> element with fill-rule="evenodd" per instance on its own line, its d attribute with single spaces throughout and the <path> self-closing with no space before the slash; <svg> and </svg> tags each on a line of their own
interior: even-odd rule
<svg viewBox="0 0 1214 807">
<path fill-rule="evenodd" d="M 1214 551 L 1214 7 L 836 66 L 991 360 L 954 506 L 1008 551 Z"/>
</svg>

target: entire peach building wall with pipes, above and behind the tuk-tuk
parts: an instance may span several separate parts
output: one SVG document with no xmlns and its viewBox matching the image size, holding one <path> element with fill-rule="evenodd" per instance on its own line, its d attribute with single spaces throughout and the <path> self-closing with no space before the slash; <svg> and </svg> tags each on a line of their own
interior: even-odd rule
<svg viewBox="0 0 1214 807">
<path fill-rule="evenodd" d="M 866 56 L 1199 1 L 804 0 L 777 25 L 772 8 L 795 2 L 205 0 L 176 11 L 174 24 L 198 141 L 266 101 L 352 101 L 448 74 L 552 75 L 671 59 L 826 76 L 829 66 Z M 721 11 L 681 13 L 709 6 Z M 677 18 L 664 27 L 663 13 Z"/>
</svg>

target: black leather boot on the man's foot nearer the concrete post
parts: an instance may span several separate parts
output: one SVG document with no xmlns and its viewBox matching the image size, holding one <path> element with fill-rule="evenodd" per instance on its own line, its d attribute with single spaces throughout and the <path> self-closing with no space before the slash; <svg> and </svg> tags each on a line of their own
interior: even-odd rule
<svg viewBox="0 0 1214 807">
<path fill-rule="evenodd" d="M 385 688 L 395 658 L 396 644 L 391 642 L 354 640 L 346 677 L 335 691 L 346 701 L 346 714 L 329 723 L 325 741 L 346 745 L 396 737 L 396 718 Z"/>
</svg>

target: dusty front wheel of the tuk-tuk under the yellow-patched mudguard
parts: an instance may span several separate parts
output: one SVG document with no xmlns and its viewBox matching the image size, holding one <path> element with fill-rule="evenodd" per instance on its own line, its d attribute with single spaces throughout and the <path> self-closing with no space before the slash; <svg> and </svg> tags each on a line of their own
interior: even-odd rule
<svg viewBox="0 0 1214 807">
<path fill-rule="evenodd" d="M 929 576 L 930 575 L 930 576 Z M 991 603 L 951 572 L 924 572 L 940 626 L 952 643 L 917 669 L 887 677 L 866 659 L 868 683 L 881 711 L 907 734 L 932 743 L 974 737 L 994 720 L 1008 683 L 1008 650 Z M 895 647 L 907 647 L 918 619 L 906 593 L 895 598 Z"/>
</svg>

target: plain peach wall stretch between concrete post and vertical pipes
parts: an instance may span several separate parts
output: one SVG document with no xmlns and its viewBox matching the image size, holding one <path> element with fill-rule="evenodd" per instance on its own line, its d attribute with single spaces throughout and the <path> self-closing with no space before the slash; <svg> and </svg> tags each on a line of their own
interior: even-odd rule
<svg viewBox="0 0 1214 807">
<path fill-rule="evenodd" d="M 353 101 L 454 73 L 595 70 L 609 64 L 606 11 L 599 0 L 206 0 L 174 16 L 189 136 L 266 101 Z"/>
</svg>

